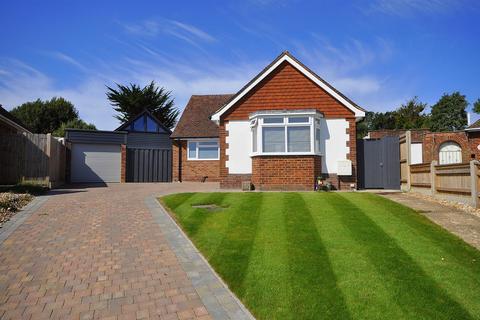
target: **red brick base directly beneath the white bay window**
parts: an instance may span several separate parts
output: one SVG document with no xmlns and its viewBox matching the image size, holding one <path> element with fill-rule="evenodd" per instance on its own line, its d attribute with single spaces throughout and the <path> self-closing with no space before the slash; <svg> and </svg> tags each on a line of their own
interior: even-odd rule
<svg viewBox="0 0 480 320">
<path fill-rule="evenodd" d="M 321 170 L 320 156 L 256 156 L 252 183 L 259 190 L 313 190 Z"/>
</svg>

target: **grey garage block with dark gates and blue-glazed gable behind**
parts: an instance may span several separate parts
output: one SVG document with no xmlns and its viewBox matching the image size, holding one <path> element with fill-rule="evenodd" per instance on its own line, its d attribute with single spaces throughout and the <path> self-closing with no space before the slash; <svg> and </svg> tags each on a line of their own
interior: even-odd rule
<svg viewBox="0 0 480 320">
<path fill-rule="evenodd" d="M 146 110 L 114 131 L 67 129 L 67 177 L 76 183 L 169 182 L 170 134 Z"/>
</svg>

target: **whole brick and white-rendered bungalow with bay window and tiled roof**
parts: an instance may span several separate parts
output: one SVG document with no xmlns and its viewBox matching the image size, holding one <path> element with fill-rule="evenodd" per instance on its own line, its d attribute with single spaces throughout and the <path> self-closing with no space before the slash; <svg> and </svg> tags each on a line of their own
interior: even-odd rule
<svg viewBox="0 0 480 320">
<path fill-rule="evenodd" d="M 236 94 L 194 95 L 173 134 L 175 181 L 356 187 L 356 123 L 365 110 L 283 52 Z"/>
</svg>

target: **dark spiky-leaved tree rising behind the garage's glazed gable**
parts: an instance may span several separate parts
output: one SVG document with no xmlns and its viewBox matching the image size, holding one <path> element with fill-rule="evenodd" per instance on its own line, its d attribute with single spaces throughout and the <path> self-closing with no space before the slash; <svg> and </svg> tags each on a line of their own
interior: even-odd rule
<svg viewBox="0 0 480 320">
<path fill-rule="evenodd" d="M 118 112 L 115 118 L 125 123 L 144 110 L 150 111 L 163 125 L 172 129 L 179 114 L 174 105 L 171 92 L 160 88 L 151 82 L 144 88 L 136 84 L 123 86 L 117 84 L 117 89 L 107 86 L 107 98 L 114 110 Z"/>
</svg>

